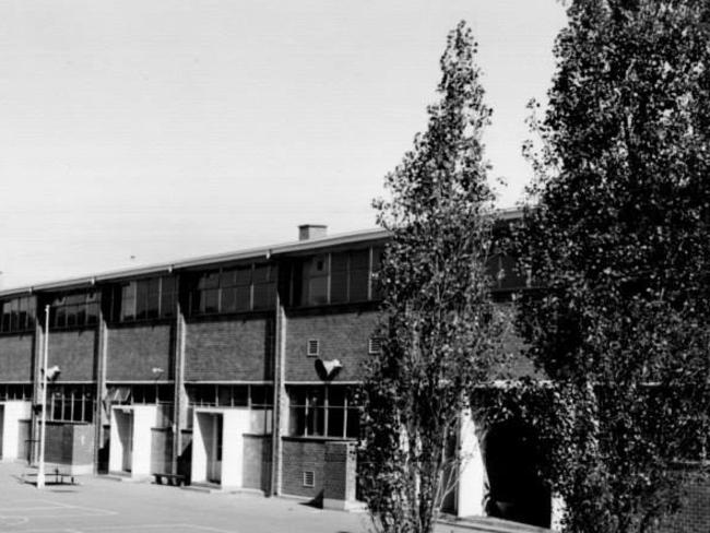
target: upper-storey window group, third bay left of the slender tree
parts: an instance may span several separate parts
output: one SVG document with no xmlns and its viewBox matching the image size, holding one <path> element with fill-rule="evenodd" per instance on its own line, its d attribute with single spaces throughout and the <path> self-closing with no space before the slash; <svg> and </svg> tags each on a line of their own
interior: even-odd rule
<svg viewBox="0 0 710 533">
<path fill-rule="evenodd" d="M 167 275 L 122 283 L 114 292 L 117 303 L 114 320 L 132 322 L 174 317 L 176 285 L 176 277 Z"/>
</svg>

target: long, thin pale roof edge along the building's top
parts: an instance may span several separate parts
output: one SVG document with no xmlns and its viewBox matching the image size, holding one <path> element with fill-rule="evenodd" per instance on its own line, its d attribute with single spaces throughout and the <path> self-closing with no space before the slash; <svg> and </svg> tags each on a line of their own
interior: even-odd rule
<svg viewBox="0 0 710 533">
<path fill-rule="evenodd" d="M 519 218 L 522 215 L 522 210 L 519 208 L 498 210 L 497 216 L 502 221 L 510 221 Z M 354 242 L 367 242 L 383 240 L 390 235 L 390 232 L 382 228 L 360 229 L 357 232 L 350 232 L 336 234 L 327 237 L 319 237 L 307 240 L 297 240 L 274 245 L 270 247 L 249 248 L 245 250 L 230 251 L 225 253 L 215 253 L 209 256 L 198 256 L 194 258 L 182 259 L 178 261 L 149 264 L 135 269 L 123 269 L 103 272 L 93 275 L 85 275 L 80 277 L 69 277 L 66 280 L 58 280 L 45 283 L 37 283 L 34 285 L 25 285 L 20 287 L 12 287 L 0 291 L 0 297 L 3 296 L 21 296 L 23 294 L 33 294 L 37 292 L 55 291 L 55 289 L 71 289 L 93 287 L 100 282 L 118 281 L 130 277 L 140 277 L 151 274 L 170 274 L 176 270 L 188 270 L 197 266 L 206 266 L 216 263 L 227 263 L 233 261 L 240 261 L 246 259 L 269 259 L 274 256 L 285 256 L 288 253 L 298 253 L 308 250 L 319 250 L 323 248 L 331 248 L 336 246 L 350 245 Z"/>
</svg>

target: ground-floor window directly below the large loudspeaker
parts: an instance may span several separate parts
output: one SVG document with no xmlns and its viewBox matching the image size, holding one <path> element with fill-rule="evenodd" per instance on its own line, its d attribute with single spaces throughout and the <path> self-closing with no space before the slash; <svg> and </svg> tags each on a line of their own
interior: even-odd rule
<svg viewBox="0 0 710 533">
<path fill-rule="evenodd" d="M 294 437 L 358 438 L 360 407 L 345 386 L 288 388 Z"/>
</svg>

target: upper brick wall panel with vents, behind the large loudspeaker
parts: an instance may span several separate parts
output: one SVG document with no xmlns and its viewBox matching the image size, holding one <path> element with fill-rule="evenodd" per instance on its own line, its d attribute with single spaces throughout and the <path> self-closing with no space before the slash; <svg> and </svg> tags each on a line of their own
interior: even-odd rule
<svg viewBox="0 0 710 533">
<path fill-rule="evenodd" d="M 309 357 L 308 341 L 318 339 L 321 359 L 340 359 L 343 369 L 334 381 L 362 379 L 362 364 L 369 357 L 368 341 L 377 325 L 377 311 L 319 309 L 319 313 L 291 313 L 286 325 L 286 380 L 315 381 L 317 357 Z"/>
</svg>

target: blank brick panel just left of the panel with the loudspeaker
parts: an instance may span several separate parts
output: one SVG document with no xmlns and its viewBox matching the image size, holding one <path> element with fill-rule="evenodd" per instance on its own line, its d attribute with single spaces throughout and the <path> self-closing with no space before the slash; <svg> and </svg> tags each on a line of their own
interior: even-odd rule
<svg viewBox="0 0 710 533">
<path fill-rule="evenodd" d="M 273 376 L 273 320 L 264 317 L 187 324 L 185 379 L 188 381 L 270 380 Z"/>
</svg>

